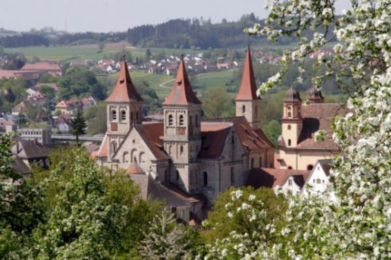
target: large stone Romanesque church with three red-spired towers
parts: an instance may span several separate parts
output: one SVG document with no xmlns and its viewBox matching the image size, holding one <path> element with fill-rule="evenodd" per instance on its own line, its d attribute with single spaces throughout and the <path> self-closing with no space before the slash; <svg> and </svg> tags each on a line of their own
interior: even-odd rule
<svg viewBox="0 0 391 260">
<path fill-rule="evenodd" d="M 152 176 L 182 195 L 210 202 L 230 186 L 244 185 L 252 168 L 274 167 L 274 146 L 261 130 L 261 98 L 247 50 L 236 116 L 203 119 L 185 63 L 179 62 L 163 122 L 143 122 L 143 99 L 121 64 L 117 83 L 106 100 L 107 133 L 97 163 L 112 170 Z"/>
</svg>

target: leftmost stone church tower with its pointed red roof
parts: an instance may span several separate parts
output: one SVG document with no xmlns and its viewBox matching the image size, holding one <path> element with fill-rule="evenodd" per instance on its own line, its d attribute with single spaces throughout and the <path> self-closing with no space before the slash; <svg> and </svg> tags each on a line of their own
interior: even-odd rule
<svg viewBox="0 0 391 260">
<path fill-rule="evenodd" d="M 128 65 L 121 63 L 117 83 L 106 99 L 108 162 L 134 124 L 141 124 L 143 99 L 131 82 Z"/>
</svg>

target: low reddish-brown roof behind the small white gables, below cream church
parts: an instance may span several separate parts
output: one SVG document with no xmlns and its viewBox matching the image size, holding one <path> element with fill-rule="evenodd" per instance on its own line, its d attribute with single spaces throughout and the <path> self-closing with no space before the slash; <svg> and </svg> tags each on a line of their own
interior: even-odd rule
<svg viewBox="0 0 391 260">
<path fill-rule="evenodd" d="M 305 180 L 307 180 L 311 171 L 290 170 L 290 169 L 274 169 L 274 168 L 254 168 L 248 173 L 245 185 L 251 186 L 254 189 L 260 187 L 275 188 L 282 187 L 289 176 L 292 176 L 295 183 L 303 188 Z"/>
</svg>

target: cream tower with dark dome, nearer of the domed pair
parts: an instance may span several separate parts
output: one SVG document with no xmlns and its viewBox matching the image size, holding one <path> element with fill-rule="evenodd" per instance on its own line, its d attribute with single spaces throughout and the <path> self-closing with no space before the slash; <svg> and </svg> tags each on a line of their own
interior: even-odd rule
<svg viewBox="0 0 391 260">
<path fill-rule="evenodd" d="M 285 94 L 282 114 L 282 148 L 295 148 L 303 128 L 302 100 L 292 87 Z"/>
</svg>

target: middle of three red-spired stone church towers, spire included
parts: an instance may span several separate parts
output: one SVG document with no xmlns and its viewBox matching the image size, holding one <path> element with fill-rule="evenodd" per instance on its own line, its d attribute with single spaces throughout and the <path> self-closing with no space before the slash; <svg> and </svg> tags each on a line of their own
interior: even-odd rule
<svg viewBox="0 0 391 260">
<path fill-rule="evenodd" d="M 196 97 L 182 60 L 170 95 L 163 103 L 164 149 L 171 156 L 173 167 L 169 179 L 188 193 L 198 183 L 196 158 L 201 149 L 201 102 Z"/>
</svg>

